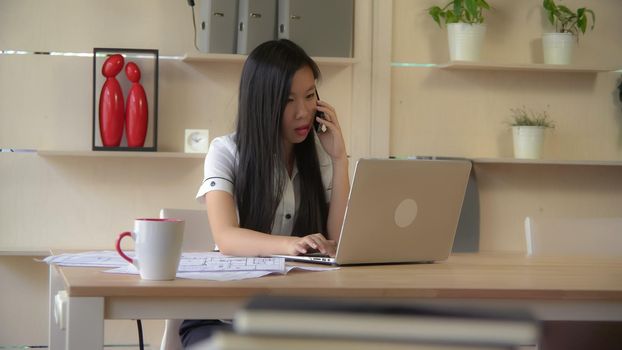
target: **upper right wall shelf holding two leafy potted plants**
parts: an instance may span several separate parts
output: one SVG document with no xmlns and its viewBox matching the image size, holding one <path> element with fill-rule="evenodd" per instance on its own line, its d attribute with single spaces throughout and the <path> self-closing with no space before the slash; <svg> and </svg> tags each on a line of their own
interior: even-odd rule
<svg viewBox="0 0 622 350">
<path fill-rule="evenodd" d="M 543 63 L 503 64 L 487 62 L 451 61 L 439 64 L 442 69 L 463 70 L 504 70 L 504 71 L 537 71 L 537 72 L 563 72 L 563 73 L 603 73 L 613 72 L 619 68 L 602 66 L 578 66 L 578 65 L 555 65 Z"/>
</svg>

